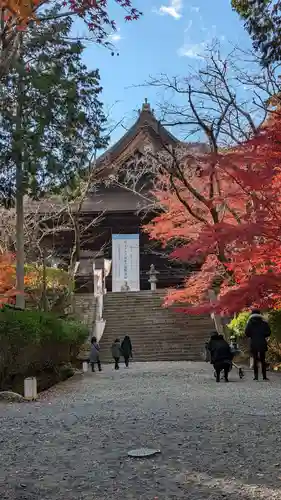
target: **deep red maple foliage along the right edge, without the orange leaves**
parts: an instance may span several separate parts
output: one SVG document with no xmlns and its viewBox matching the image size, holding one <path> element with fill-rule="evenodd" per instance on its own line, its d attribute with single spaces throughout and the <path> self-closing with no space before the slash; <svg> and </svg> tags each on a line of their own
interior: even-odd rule
<svg viewBox="0 0 281 500">
<path fill-rule="evenodd" d="M 277 109 L 256 136 L 221 159 L 247 193 L 247 211 L 236 226 L 219 227 L 228 247 L 225 280 L 216 307 L 235 312 L 281 306 L 281 115 Z"/>
</svg>

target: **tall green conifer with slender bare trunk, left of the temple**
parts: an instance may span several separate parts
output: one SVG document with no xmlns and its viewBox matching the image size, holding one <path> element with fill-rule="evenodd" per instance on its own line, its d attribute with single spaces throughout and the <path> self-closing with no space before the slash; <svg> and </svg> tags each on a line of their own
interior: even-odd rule
<svg viewBox="0 0 281 500">
<path fill-rule="evenodd" d="M 53 17 L 54 11 L 52 11 Z M 82 62 L 72 18 L 34 25 L 0 88 L 2 202 L 16 199 L 17 288 L 24 290 L 23 196 L 75 184 L 93 151 L 104 148 L 106 118 L 97 70 Z M 23 293 L 18 295 L 23 303 Z"/>
</svg>

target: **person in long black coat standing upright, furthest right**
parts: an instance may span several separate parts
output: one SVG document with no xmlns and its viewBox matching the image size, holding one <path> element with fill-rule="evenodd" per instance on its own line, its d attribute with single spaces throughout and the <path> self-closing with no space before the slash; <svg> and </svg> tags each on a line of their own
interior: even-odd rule
<svg viewBox="0 0 281 500">
<path fill-rule="evenodd" d="M 254 380 L 259 379 L 259 361 L 263 380 L 268 380 L 266 376 L 266 351 L 267 339 L 271 334 L 268 322 L 263 318 L 259 309 L 253 309 L 248 319 L 245 335 L 250 339 L 250 349 L 253 356 Z"/>
</svg>

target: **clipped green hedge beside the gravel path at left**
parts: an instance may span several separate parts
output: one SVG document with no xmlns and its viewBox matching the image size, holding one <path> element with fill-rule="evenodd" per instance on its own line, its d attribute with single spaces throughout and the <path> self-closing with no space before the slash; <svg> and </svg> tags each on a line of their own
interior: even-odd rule
<svg viewBox="0 0 281 500">
<path fill-rule="evenodd" d="M 88 329 L 81 322 L 4 307 L 0 310 L 0 388 L 14 377 L 56 371 L 71 363 L 87 337 Z"/>
</svg>

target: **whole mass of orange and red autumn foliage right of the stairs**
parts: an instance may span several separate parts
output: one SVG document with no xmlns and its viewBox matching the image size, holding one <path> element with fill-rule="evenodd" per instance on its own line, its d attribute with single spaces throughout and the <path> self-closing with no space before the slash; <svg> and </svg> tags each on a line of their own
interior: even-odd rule
<svg viewBox="0 0 281 500">
<path fill-rule="evenodd" d="M 160 176 L 155 195 L 164 211 L 146 230 L 163 245 L 174 242 L 172 258 L 201 264 L 183 289 L 169 291 L 166 305 L 195 314 L 281 306 L 280 159 L 276 113 L 241 146 L 197 155 L 200 175 L 187 161 L 173 189 L 171 176 Z M 212 305 L 210 288 L 218 292 Z"/>
</svg>

